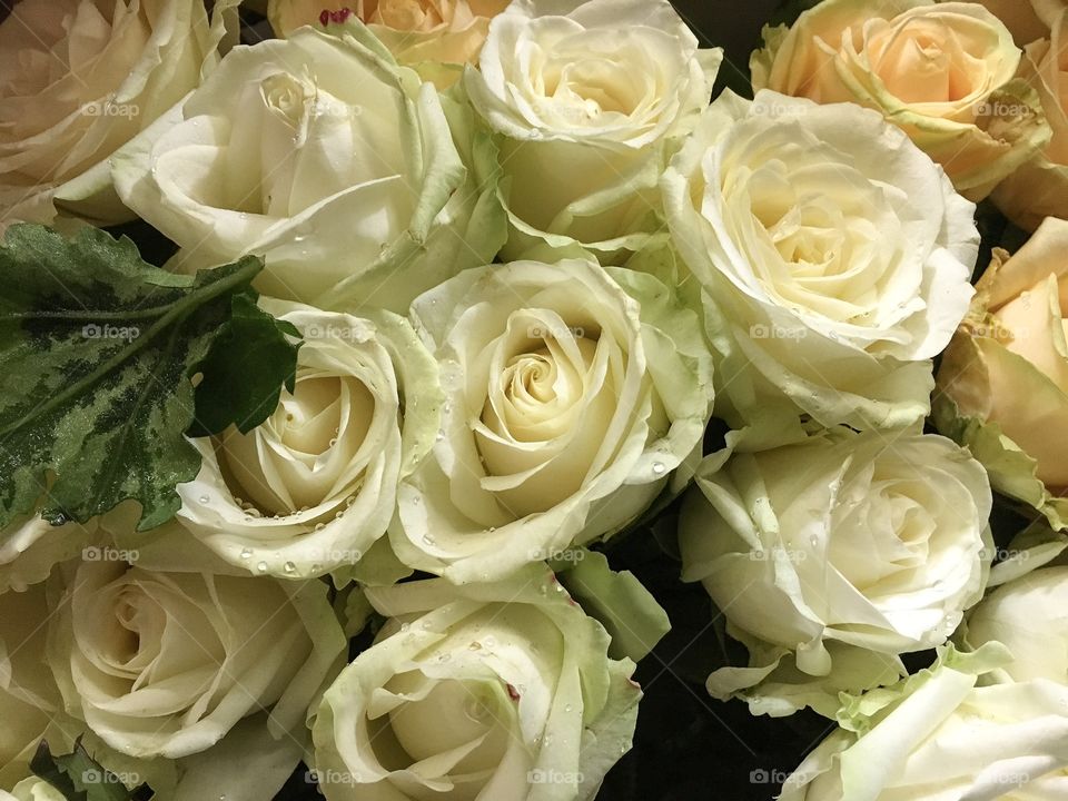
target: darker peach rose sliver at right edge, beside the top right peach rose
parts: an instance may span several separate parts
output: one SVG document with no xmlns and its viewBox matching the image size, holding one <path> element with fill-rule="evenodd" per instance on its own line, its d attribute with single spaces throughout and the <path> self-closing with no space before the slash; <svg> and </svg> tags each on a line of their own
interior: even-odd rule
<svg viewBox="0 0 1068 801">
<path fill-rule="evenodd" d="M 1020 77 L 1038 90 L 1054 137 L 992 199 L 1018 226 L 1035 230 L 1046 217 L 1068 219 L 1068 10 L 1055 18 L 1049 39 L 1027 46 Z"/>
</svg>

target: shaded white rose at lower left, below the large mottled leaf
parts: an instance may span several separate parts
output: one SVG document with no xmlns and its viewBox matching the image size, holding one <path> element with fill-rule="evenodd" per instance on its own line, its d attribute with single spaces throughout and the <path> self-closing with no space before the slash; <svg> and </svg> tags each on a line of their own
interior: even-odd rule
<svg viewBox="0 0 1068 801">
<path fill-rule="evenodd" d="M 319 582 L 105 561 L 65 572 L 47 663 L 67 710 L 131 756 L 206 751 L 267 709 L 274 740 L 297 740 L 344 659 Z"/>
</svg>

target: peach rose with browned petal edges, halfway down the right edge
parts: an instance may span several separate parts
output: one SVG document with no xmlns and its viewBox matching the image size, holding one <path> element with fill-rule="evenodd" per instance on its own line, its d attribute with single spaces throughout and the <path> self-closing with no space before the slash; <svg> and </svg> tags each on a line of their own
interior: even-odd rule
<svg viewBox="0 0 1068 801">
<path fill-rule="evenodd" d="M 993 253 L 938 374 L 936 423 L 967 445 L 998 491 L 1068 512 L 1068 222 L 1049 218 L 1013 256 Z"/>
</svg>

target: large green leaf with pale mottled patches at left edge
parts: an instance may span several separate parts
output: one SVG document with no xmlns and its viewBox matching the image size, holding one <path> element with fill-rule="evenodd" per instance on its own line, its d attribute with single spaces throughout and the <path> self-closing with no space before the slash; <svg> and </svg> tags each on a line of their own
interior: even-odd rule
<svg viewBox="0 0 1068 801">
<path fill-rule="evenodd" d="M 9 228 L 0 245 L 0 526 L 42 497 L 41 514 L 57 525 L 128 498 L 141 505 L 141 531 L 174 516 L 176 485 L 200 466 L 185 438 L 196 408 L 192 379 L 224 362 L 209 355 L 231 332 L 235 309 L 243 329 L 251 325 L 249 284 L 261 269 L 247 257 L 172 275 L 146 264 L 129 239 L 95 228 L 71 240 L 42 226 Z M 245 358 L 258 370 L 267 365 L 256 348 L 271 337 L 253 339 L 256 353 L 246 348 Z M 277 385 L 290 364 L 274 366 Z M 256 390 L 268 383 L 256 380 Z M 204 382 L 217 396 L 218 380 Z M 238 398 L 247 407 L 238 408 Z M 244 425 L 269 402 L 235 394 L 210 423 Z"/>
</svg>

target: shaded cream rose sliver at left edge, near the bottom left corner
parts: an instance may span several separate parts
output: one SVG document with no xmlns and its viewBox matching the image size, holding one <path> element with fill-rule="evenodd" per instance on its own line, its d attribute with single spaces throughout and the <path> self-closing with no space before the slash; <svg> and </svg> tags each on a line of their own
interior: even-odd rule
<svg viewBox="0 0 1068 801">
<path fill-rule="evenodd" d="M 42 670 L 48 617 L 43 584 L 0 593 L 0 788 L 30 774 L 42 739 L 66 746 L 78 734 L 65 725 L 63 700 Z"/>
</svg>

